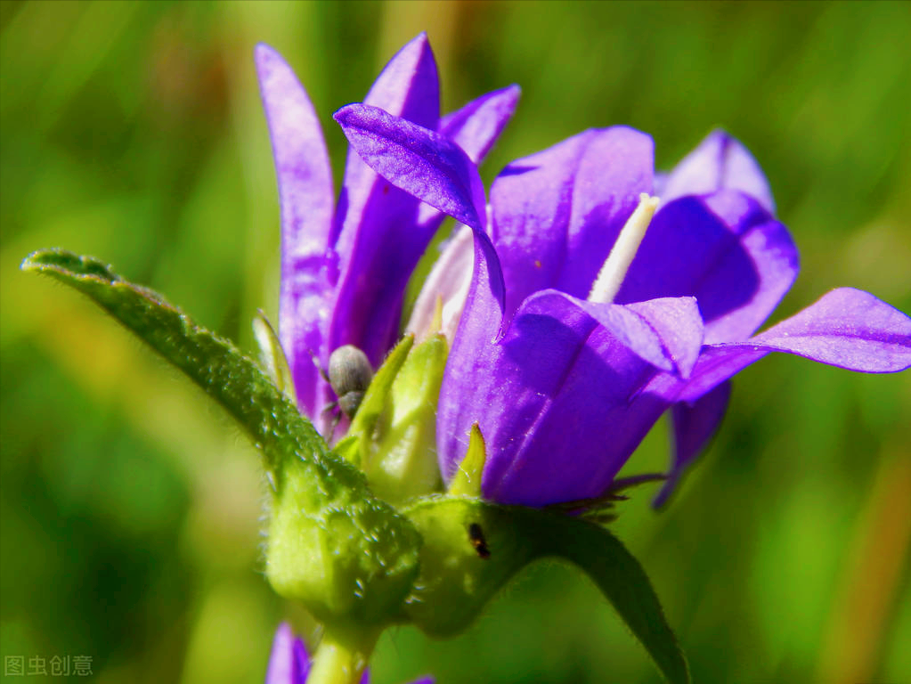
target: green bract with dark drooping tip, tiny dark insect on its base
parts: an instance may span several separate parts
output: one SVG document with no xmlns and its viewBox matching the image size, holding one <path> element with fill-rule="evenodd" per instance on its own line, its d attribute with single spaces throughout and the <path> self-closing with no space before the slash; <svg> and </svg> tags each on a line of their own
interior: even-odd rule
<svg viewBox="0 0 911 684">
<path fill-rule="evenodd" d="M 427 634 L 458 634 L 518 570 L 557 556 L 588 573 L 668 681 L 690 681 L 649 578 L 604 527 L 547 510 L 449 495 L 421 499 L 403 512 L 424 536 L 421 573 L 404 613 Z"/>
</svg>

